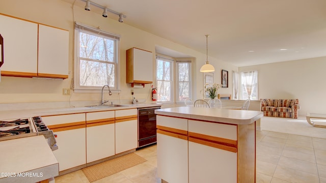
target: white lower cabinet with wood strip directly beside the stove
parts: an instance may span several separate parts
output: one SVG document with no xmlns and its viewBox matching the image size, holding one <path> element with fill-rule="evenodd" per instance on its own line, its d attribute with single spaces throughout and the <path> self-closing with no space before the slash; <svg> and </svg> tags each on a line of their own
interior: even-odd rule
<svg viewBox="0 0 326 183">
<path fill-rule="evenodd" d="M 86 164 L 85 113 L 42 116 L 45 125 L 57 134 L 58 149 L 53 151 L 59 171 Z"/>
</svg>

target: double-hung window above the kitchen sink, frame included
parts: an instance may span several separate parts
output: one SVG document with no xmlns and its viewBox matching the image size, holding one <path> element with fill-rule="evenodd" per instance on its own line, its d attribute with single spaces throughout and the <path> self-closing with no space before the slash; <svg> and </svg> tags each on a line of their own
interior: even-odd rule
<svg viewBox="0 0 326 183">
<path fill-rule="evenodd" d="M 74 89 L 118 89 L 120 37 L 80 23 L 75 24 Z"/>
</svg>

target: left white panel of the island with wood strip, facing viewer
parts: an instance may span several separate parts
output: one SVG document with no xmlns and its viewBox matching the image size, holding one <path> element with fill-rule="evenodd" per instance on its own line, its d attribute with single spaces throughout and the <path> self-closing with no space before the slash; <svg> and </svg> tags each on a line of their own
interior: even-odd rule
<svg viewBox="0 0 326 183">
<path fill-rule="evenodd" d="M 187 119 L 157 115 L 156 124 L 157 176 L 171 183 L 188 182 Z"/>
</svg>

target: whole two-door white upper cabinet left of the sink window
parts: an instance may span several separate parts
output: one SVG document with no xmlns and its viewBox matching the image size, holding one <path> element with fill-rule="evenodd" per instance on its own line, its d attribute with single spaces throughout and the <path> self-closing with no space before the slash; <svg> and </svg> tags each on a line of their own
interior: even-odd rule
<svg viewBox="0 0 326 183">
<path fill-rule="evenodd" d="M 0 15 L 2 76 L 68 78 L 69 31 Z"/>
</svg>

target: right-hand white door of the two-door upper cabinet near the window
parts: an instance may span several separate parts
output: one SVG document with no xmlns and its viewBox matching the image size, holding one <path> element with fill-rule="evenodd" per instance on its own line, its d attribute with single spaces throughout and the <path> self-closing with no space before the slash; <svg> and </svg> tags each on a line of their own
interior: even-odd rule
<svg viewBox="0 0 326 183">
<path fill-rule="evenodd" d="M 38 75 L 68 75 L 69 32 L 39 25 Z"/>
</svg>

